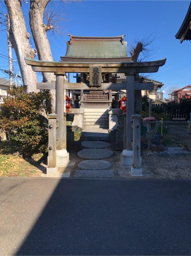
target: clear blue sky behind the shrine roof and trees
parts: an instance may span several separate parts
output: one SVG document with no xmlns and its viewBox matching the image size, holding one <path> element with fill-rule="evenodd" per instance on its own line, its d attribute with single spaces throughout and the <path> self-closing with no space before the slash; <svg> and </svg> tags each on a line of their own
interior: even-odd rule
<svg viewBox="0 0 191 256">
<path fill-rule="evenodd" d="M 4 1 L 2 1 L 4 2 Z M 0 12 L 7 13 L 0 4 Z M 152 60 L 167 58 L 166 64 L 159 68 L 152 78 L 164 83 L 164 90 L 177 85 L 179 88 L 191 84 L 191 41 L 180 43 L 175 39 L 190 1 L 81 1 L 67 4 L 67 22 L 63 23 L 64 35 L 49 36 L 54 60 L 59 60 L 66 52 L 67 34 L 80 36 L 115 36 L 126 34 L 127 51 L 135 37 L 155 33 L 157 39 L 153 47 L 157 51 Z M 29 1 L 22 1 L 22 10 L 30 32 L 28 11 Z M 1 14 L 2 17 L 2 14 Z M 2 27 L 1 27 L 2 29 Z M 34 46 L 33 40 L 31 40 Z M 33 47 L 34 48 L 34 47 Z M 0 53 L 8 55 L 6 32 L 1 31 Z M 0 69 L 8 69 L 7 58 L 0 55 Z M 3 58 L 4 57 L 4 58 Z M 16 60 L 13 52 L 13 58 Z M 19 66 L 14 62 L 14 72 Z M 5 75 L 1 73 L 1 77 Z M 38 75 L 38 80 L 42 76 Z M 167 95 L 167 94 L 166 94 Z"/>
</svg>

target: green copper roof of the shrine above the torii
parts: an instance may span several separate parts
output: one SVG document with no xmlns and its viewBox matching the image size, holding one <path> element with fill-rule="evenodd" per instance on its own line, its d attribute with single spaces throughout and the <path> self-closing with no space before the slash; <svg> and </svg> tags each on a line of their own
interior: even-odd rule
<svg viewBox="0 0 191 256">
<path fill-rule="evenodd" d="M 61 58 L 129 58 L 127 42 L 123 41 L 123 38 L 124 35 L 117 37 L 78 37 L 70 35 L 66 55 Z"/>
</svg>

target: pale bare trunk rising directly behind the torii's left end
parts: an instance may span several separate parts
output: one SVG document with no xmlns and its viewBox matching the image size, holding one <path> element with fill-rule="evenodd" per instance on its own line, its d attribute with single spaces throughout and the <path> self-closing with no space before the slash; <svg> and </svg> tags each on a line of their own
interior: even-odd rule
<svg viewBox="0 0 191 256">
<path fill-rule="evenodd" d="M 51 26 L 46 26 L 43 22 L 44 9 L 49 2 L 50 0 L 30 0 L 30 28 L 38 52 L 38 58 L 43 61 L 53 61 L 50 43 L 47 37 L 47 31 L 51 29 Z M 56 80 L 54 73 L 42 72 L 42 75 L 44 82 Z M 47 111 L 49 113 L 55 113 L 56 91 L 50 90 L 50 94 L 52 100 L 47 104 Z"/>
</svg>

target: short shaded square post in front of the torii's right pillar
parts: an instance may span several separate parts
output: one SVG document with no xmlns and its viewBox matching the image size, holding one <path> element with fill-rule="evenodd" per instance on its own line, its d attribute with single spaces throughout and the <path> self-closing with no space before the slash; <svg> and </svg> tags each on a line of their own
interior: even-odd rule
<svg viewBox="0 0 191 256">
<path fill-rule="evenodd" d="M 132 176 L 142 176 L 141 168 L 141 115 L 133 115 L 133 166 Z"/>
</svg>

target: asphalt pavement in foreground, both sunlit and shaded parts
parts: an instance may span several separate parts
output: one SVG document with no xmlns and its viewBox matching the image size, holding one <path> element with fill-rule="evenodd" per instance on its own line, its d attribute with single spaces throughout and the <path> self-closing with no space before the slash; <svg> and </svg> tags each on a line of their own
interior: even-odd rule
<svg viewBox="0 0 191 256">
<path fill-rule="evenodd" d="M 191 181 L 0 178 L 1 255 L 191 255 Z"/>
</svg>

